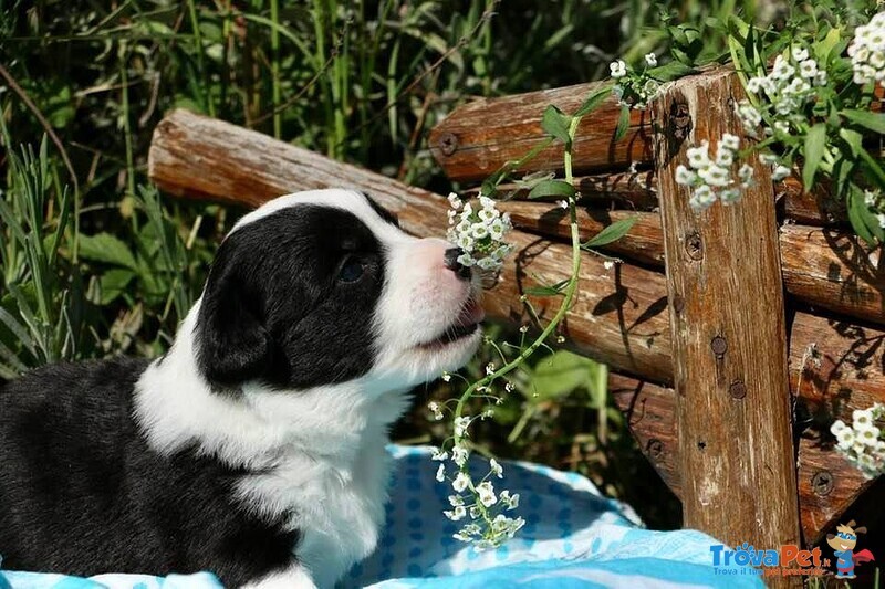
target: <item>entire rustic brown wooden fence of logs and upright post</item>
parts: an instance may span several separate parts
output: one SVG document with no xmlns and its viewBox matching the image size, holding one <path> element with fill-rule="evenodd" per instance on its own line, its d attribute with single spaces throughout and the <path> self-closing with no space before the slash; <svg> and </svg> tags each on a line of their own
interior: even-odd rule
<svg viewBox="0 0 885 589">
<path fill-rule="evenodd" d="M 574 111 L 595 87 L 468 103 L 434 129 L 430 149 L 452 180 L 481 180 L 546 139 L 540 120 L 549 104 Z M 804 194 L 795 179 L 773 185 L 759 162 L 739 204 L 689 210 L 676 166 L 691 144 L 739 135 L 732 105 L 741 97 L 732 74 L 711 72 L 634 112 L 621 141 L 612 140 L 613 101 L 581 124 L 573 164 L 582 236 L 625 217 L 638 221 L 604 248 L 623 264 L 582 253 L 563 335 L 569 348 L 610 365 L 610 389 L 680 497 L 687 526 L 732 545 L 810 545 L 871 484 L 825 432 L 833 419 L 885 402 L 885 280 L 878 251 L 852 234 L 823 188 Z M 554 171 L 560 160 L 561 147 L 551 146 L 520 171 Z M 446 229 L 439 194 L 185 111 L 158 125 L 149 175 L 171 194 L 247 206 L 355 187 L 406 231 Z M 568 277 L 569 221 L 555 203 L 522 200 L 517 187 L 512 194 L 501 208 L 517 227 L 517 253 L 486 308 L 529 323 L 520 295 Z M 559 299 L 532 303 L 544 318 Z M 796 421 L 800 410 L 809 419 Z"/>
</svg>

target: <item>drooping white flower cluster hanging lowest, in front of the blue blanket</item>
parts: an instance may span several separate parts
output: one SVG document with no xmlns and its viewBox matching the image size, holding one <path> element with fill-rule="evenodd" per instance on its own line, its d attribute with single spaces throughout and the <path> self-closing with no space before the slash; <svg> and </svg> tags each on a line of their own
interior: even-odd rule
<svg viewBox="0 0 885 589">
<path fill-rule="evenodd" d="M 460 417 L 455 423 L 455 445 L 451 454 L 444 450 L 435 450 L 433 460 L 440 462 L 436 480 L 438 482 L 450 481 L 455 494 L 449 495 L 451 509 L 442 514 L 452 522 L 466 522 L 464 527 L 454 537 L 464 543 L 473 544 L 478 550 L 494 548 L 507 539 L 512 538 L 519 529 L 525 525 L 522 517 L 509 517 L 506 512 L 519 507 L 519 493 L 511 494 L 508 490 L 496 493 L 493 477 L 503 478 L 503 467 L 491 459 L 489 461 L 489 472 L 479 482 L 471 478 L 468 470 L 470 450 L 467 448 L 464 438 L 467 437 L 467 428 L 472 421 L 469 417 Z M 446 471 L 446 461 L 450 461 L 454 477 Z"/>
</svg>

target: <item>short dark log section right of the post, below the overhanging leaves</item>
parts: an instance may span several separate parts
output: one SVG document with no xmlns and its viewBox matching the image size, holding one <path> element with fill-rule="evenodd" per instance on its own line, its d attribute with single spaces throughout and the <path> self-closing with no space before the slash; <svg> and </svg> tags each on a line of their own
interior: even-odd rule
<svg viewBox="0 0 885 589">
<path fill-rule="evenodd" d="M 783 280 L 791 294 L 815 307 L 885 323 L 885 274 L 879 249 L 851 230 L 788 224 L 781 228 Z"/>
</svg>

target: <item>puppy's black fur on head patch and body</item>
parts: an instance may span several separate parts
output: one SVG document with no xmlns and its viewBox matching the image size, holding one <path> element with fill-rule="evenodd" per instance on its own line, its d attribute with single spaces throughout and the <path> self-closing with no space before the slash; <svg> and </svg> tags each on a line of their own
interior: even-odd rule
<svg viewBox="0 0 885 589">
<path fill-rule="evenodd" d="M 356 378 L 374 360 L 383 283 L 381 244 L 355 215 L 313 206 L 274 212 L 221 244 L 194 361 L 219 393 L 235 396 L 251 379 L 298 395 Z M 253 515 L 231 493 L 246 470 L 196 448 L 165 455 L 148 445 L 134 418 L 146 367 L 56 365 L 0 387 L 4 568 L 209 570 L 236 587 L 293 561 L 300 530 L 287 530 L 283 516 Z"/>
</svg>

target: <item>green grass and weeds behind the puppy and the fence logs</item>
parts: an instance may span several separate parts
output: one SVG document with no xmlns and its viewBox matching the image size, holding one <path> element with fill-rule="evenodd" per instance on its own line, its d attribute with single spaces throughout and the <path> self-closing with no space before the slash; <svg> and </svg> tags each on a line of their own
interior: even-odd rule
<svg viewBox="0 0 885 589">
<path fill-rule="evenodd" d="M 702 23 L 757 2 L 659 4 Z M 147 149 L 164 112 L 191 108 L 446 193 L 425 138 L 458 104 L 597 80 L 611 60 L 662 54 L 668 43 L 648 1 L 538 7 L 0 0 L 0 63 L 17 83 L 0 93 L 0 378 L 168 347 L 239 211 L 149 187 Z M 704 40 L 710 55 L 725 50 L 715 32 Z M 643 515 L 653 524 L 678 525 L 678 504 L 637 455 L 604 376 L 566 355 L 525 367 L 522 392 L 481 428 L 485 448 L 579 470 L 613 496 L 650 505 Z M 436 383 L 427 397 L 452 392 Z M 419 403 L 399 435 L 433 441 L 441 431 Z"/>
</svg>

